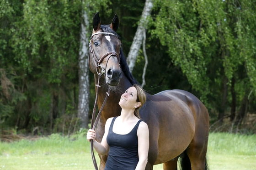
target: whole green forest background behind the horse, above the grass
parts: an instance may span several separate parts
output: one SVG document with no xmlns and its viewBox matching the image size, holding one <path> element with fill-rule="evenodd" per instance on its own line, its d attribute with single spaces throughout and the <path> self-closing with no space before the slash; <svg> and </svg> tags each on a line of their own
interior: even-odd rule
<svg viewBox="0 0 256 170">
<path fill-rule="evenodd" d="M 102 24 L 118 15 L 123 52 L 148 93 L 189 91 L 208 108 L 211 131 L 256 133 L 254 0 L 1 0 L 1 134 L 88 128 L 95 100 L 88 43 L 97 11 Z"/>
</svg>

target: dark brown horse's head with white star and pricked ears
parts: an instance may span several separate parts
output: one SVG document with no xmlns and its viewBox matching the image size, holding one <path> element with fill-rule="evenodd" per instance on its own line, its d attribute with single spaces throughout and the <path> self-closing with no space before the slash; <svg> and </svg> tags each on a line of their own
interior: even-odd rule
<svg viewBox="0 0 256 170">
<path fill-rule="evenodd" d="M 120 68 L 121 41 L 117 36 L 119 20 L 117 15 L 110 25 L 101 25 L 101 19 L 97 12 L 92 21 L 93 31 L 91 35 L 89 67 L 94 74 L 105 77 L 109 86 L 117 86 L 122 78 Z"/>
</svg>

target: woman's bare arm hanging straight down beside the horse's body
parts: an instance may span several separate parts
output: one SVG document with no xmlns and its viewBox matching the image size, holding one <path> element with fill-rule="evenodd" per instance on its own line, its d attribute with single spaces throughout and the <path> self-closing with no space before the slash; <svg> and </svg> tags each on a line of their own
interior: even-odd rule
<svg viewBox="0 0 256 170">
<path fill-rule="evenodd" d="M 149 128 L 144 122 L 140 122 L 137 130 L 139 162 L 135 170 L 145 170 L 149 153 Z"/>
</svg>

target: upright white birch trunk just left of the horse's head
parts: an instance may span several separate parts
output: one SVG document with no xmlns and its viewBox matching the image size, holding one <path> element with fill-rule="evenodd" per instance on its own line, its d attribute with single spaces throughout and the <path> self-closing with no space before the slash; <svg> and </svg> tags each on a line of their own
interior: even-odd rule
<svg viewBox="0 0 256 170">
<path fill-rule="evenodd" d="M 89 82 L 89 66 L 88 66 L 88 44 L 90 39 L 90 24 L 89 18 L 94 15 L 93 11 L 99 10 L 103 6 L 107 8 L 108 0 L 82 0 L 82 17 L 81 17 L 81 32 L 80 32 L 80 52 L 79 52 L 79 94 L 78 94 L 78 116 L 80 118 L 80 128 L 88 128 L 89 118 L 89 101 L 90 101 L 90 82 Z M 99 6 L 99 7 L 96 7 Z M 91 11 L 91 12 L 90 12 Z M 109 10 L 110 12 L 111 10 Z M 76 122 L 77 123 L 77 122 Z"/>
</svg>

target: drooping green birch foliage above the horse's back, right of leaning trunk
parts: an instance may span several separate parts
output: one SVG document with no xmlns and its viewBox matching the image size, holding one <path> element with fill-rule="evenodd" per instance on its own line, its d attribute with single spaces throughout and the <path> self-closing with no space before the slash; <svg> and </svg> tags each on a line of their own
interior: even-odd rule
<svg viewBox="0 0 256 170">
<path fill-rule="evenodd" d="M 155 1 L 149 32 L 167 47 L 208 109 L 221 111 L 226 103 L 220 100 L 225 77 L 229 88 L 235 83 L 237 103 L 251 89 L 255 95 L 255 8 L 251 0 Z M 229 91 L 227 105 L 232 99 Z"/>
</svg>

